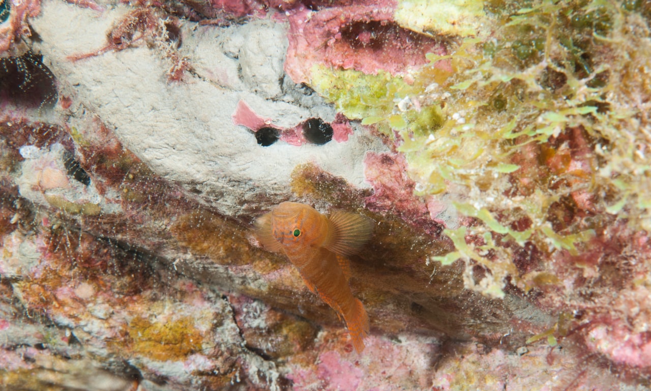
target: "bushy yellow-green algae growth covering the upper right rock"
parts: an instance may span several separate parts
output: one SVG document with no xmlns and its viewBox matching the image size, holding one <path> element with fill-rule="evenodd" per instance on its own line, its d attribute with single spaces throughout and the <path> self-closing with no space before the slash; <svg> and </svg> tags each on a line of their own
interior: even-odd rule
<svg viewBox="0 0 651 391">
<path fill-rule="evenodd" d="M 482 16 L 481 29 L 445 36 L 450 55 L 430 55 L 413 74 L 314 66 L 312 86 L 348 117 L 389 137 L 397 132 L 417 195 L 448 193 L 461 214 L 480 222 L 446 230 L 456 251 L 432 260 L 480 263 L 488 277 L 476 282 L 469 271 L 467 287 L 501 297 L 506 276 L 527 290 L 549 271 L 519 272 L 506 242 L 577 254 L 616 219 L 651 229 L 651 7 L 639 0 L 477 4 L 484 16 L 471 19 Z M 401 8 L 403 25 L 408 9 Z M 552 145 L 570 132 L 581 135 L 587 154 L 572 155 L 567 141 Z M 594 218 L 555 224 L 557 205 L 568 199 L 568 208 Z"/>
</svg>

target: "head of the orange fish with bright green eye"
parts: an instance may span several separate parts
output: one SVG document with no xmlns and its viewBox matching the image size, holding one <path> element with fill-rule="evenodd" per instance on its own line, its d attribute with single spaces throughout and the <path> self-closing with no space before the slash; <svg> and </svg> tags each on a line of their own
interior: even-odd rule
<svg viewBox="0 0 651 391">
<path fill-rule="evenodd" d="M 327 218 L 309 205 L 283 202 L 271 210 L 271 235 L 284 248 L 320 246 L 327 237 Z"/>
</svg>

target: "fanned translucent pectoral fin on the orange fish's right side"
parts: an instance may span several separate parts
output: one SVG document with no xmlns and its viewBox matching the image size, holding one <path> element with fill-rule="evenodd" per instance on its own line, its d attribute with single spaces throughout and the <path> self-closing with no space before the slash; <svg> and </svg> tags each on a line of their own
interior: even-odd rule
<svg viewBox="0 0 651 391">
<path fill-rule="evenodd" d="M 373 220 L 361 214 L 333 212 L 328 219 L 331 232 L 324 247 L 333 253 L 357 253 L 373 235 Z"/>
</svg>

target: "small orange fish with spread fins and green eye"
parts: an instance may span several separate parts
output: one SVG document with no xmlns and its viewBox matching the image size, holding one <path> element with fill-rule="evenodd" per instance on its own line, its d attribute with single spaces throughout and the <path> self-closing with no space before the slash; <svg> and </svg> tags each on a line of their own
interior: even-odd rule
<svg viewBox="0 0 651 391">
<path fill-rule="evenodd" d="M 283 202 L 256 220 L 256 236 L 270 251 L 283 253 L 298 268 L 303 282 L 346 321 L 353 346 L 364 349 L 368 315 L 353 297 L 346 255 L 359 252 L 370 239 L 372 220 L 360 214 L 329 216 L 296 202 Z"/>
</svg>

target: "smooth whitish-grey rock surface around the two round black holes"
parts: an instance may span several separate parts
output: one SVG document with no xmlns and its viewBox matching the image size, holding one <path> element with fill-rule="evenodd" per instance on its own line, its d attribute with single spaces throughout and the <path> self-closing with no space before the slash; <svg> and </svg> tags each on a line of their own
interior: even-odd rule
<svg viewBox="0 0 651 391">
<path fill-rule="evenodd" d="M 278 126 L 296 126 L 310 117 L 334 119 L 331 106 L 314 94 L 305 96 L 283 77 L 285 24 L 181 22 L 178 51 L 193 72 L 186 72 L 180 83 L 165 76 L 171 63 L 164 49 L 143 40 L 126 50 L 68 59 L 104 47 L 111 27 L 129 10 L 117 6 L 100 13 L 46 0 L 33 20 L 44 63 L 73 99 L 70 124 L 83 129 L 99 117 L 156 173 L 199 192 L 224 214 L 264 209 L 290 198 L 290 173 L 305 162 L 368 186 L 364 154 L 385 147 L 361 127 L 344 143 L 295 147 L 278 141 L 261 147 L 250 130 L 232 123 L 240 99 Z"/>
</svg>

